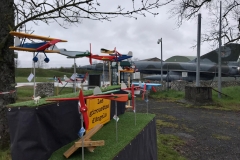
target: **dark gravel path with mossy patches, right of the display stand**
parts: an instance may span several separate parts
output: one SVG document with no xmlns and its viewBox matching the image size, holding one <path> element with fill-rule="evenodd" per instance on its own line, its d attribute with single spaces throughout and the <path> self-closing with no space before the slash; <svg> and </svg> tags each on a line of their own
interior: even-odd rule
<svg viewBox="0 0 240 160">
<path fill-rule="evenodd" d="M 137 100 L 137 112 L 147 112 Z M 240 112 L 189 108 L 183 104 L 149 100 L 149 113 L 174 124 L 160 133 L 174 134 L 186 142 L 178 151 L 190 160 L 240 160 Z"/>
</svg>

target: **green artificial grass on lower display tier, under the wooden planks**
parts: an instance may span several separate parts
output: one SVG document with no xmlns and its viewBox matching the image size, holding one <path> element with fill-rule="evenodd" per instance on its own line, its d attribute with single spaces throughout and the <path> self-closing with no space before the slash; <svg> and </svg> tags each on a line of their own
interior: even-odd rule
<svg viewBox="0 0 240 160">
<path fill-rule="evenodd" d="M 126 112 L 119 116 L 118 121 L 118 141 L 116 141 L 116 121 L 111 120 L 103 126 L 91 139 L 104 140 L 105 145 L 97 147 L 93 153 L 85 150 L 84 157 L 87 160 L 110 160 L 118 152 L 120 152 L 130 141 L 137 136 L 137 134 L 155 117 L 153 114 L 137 113 L 137 123 L 135 126 L 134 113 Z M 72 146 L 73 142 L 63 146 L 54 152 L 50 160 L 63 160 L 66 159 L 63 153 Z M 79 160 L 81 157 L 81 149 L 71 155 L 69 160 Z"/>
</svg>

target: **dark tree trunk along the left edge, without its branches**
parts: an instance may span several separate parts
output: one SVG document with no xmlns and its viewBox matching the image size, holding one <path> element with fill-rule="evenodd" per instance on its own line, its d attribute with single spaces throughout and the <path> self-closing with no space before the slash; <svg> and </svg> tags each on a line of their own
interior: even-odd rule
<svg viewBox="0 0 240 160">
<path fill-rule="evenodd" d="M 9 147 L 7 105 L 15 102 L 16 93 L 1 93 L 15 90 L 14 44 L 9 31 L 14 27 L 14 0 L 0 0 L 0 149 Z M 9 35 L 9 36 L 8 36 Z"/>
</svg>

